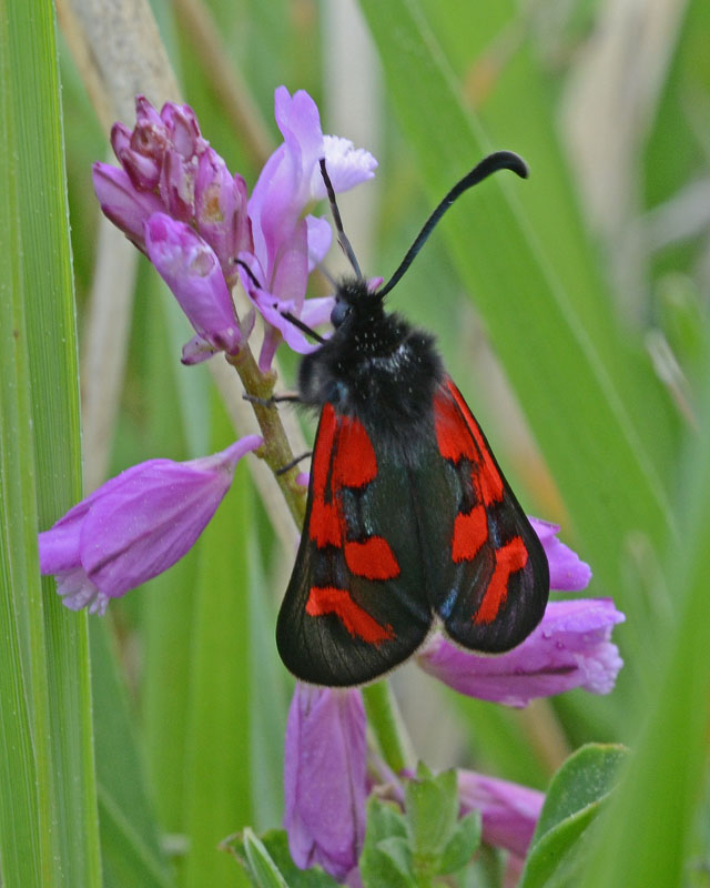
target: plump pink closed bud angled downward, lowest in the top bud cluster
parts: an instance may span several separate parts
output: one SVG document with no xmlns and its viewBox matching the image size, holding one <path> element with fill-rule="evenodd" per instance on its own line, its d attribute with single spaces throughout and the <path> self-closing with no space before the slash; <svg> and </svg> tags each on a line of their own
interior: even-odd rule
<svg viewBox="0 0 710 888">
<path fill-rule="evenodd" d="M 145 249 L 197 335 L 217 351 L 236 354 L 242 332 L 212 248 L 190 225 L 154 213 L 145 223 Z"/>
</svg>

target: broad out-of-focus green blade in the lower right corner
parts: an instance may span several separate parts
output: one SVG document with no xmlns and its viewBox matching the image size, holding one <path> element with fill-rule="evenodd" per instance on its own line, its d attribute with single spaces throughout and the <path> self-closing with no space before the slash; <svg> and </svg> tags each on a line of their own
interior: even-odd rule
<svg viewBox="0 0 710 888">
<path fill-rule="evenodd" d="M 682 885 L 688 867 L 707 779 L 710 717 L 710 390 L 703 415 L 704 427 L 693 442 L 681 487 L 686 533 L 668 558 L 680 618 L 667 649 L 645 664 L 657 679 L 657 693 L 633 744 L 629 771 L 590 852 L 584 881 L 588 888 Z"/>
</svg>

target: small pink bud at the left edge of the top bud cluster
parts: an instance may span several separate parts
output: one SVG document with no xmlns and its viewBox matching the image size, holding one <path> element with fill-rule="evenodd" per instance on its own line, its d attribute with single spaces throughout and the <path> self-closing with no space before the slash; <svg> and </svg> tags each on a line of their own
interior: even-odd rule
<svg viewBox="0 0 710 888">
<path fill-rule="evenodd" d="M 153 213 L 163 210 L 160 198 L 150 191 L 138 191 L 124 170 L 108 163 L 94 163 L 92 179 L 104 215 L 145 252 L 143 226 Z"/>
</svg>

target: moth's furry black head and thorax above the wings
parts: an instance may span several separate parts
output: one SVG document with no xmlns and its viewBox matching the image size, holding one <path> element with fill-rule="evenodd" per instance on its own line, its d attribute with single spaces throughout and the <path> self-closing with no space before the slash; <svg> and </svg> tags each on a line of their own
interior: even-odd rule
<svg viewBox="0 0 710 888">
<path fill-rule="evenodd" d="M 301 364 L 303 403 L 331 403 L 381 438 L 408 446 L 430 424 L 432 400 L 444 375 L 434 337 L 385 312 L 377 291 L 357 278 L 338 284 L 331 320 L 331 339 Z"/>
</svg>

